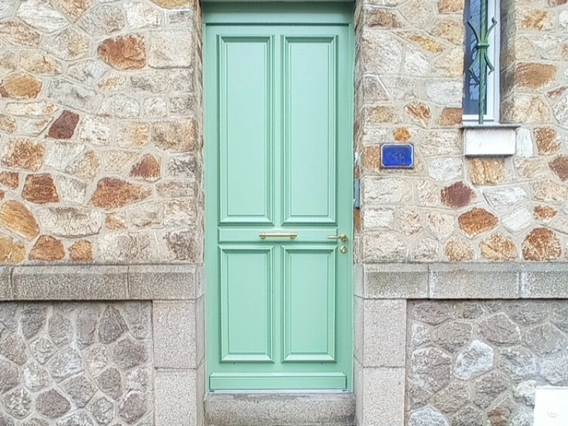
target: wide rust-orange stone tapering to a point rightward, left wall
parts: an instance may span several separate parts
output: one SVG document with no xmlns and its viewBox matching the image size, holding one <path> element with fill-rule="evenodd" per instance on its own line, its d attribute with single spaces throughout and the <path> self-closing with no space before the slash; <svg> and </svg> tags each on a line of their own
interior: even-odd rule
<svg viewBox="0 0 568 426">
<path fill-rule="evenodd" d="M 133 202 L 150 197 L 148 187 L 134 185 L 117 178 L 102 178 L 97 183 L 91 203 L 102 209 L 118 209 Z"/>
</svg>

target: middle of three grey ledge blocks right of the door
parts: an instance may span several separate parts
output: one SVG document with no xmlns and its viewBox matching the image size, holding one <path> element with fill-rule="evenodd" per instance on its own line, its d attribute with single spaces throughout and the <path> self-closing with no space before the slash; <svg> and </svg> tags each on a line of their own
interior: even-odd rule
<svg viewBox="0 0 568 426">
<path fill-rule="evenodd" d="M 430 267 L 434 299 L 511 299 L 519 297 L 519 272 L 512 264 L 436 264 Z"/>
</svg>

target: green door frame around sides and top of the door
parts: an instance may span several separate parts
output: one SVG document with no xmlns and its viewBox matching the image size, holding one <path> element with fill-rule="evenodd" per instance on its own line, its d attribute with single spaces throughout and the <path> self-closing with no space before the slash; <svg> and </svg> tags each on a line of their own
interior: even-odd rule
<svg viewBox="0 0 568 426">
<path fill-rule="evenodd" d="M 203 47 L 202 52 L 204 52 L 205 47 L 205 33 L 207 25 L 209 24 L 235 24 L 235 25 L 246 25 L 253 24 L 262 21 L 261 17 L 266 16 L 266 13 L 271 13 L 273 24 L 289 24 L 290 21 L 294 23 L 299 23 L 302 25 L 323 25 L 323 24 L 342 24 L 348 27 L 349 32 L 349 62 L 351 64 L 351 70 L 349 75 L 354 76 L 354 60 L 355 60 L 355 35 L 354 35 L 354 2 L 351 1 L 317 1 L 317 2 L 306 2 L 299 3 L 295 1 L 284 2 L 284 3 L 271 3 L 271 2 L 255 2 L 255 1 L 242 1 L 242 2 L 209 2 L 202 4 L 202 38 Z M 203 65 L 202 69 L 206 69 L 206 56 L 202 55 Z M 208 165 L 218 164 L 219 158 L 218 153 L 212 143 L 208 143 L 208 138 L 212 134 L 212 120 L 208 120 L 207 111 L 212 110 L 211 99 L 207 99 L 205 96 L 205 88 L 207 87 L 207 75 L 203 72 L 203 114 L 204 114 L 204 295 L 205 295 L 205 333 L 204 333 L 204 346 L 205 346 L 205 359 L 207 361 L 207 341 L 214 337 L 215 333 L 219 333 L 219 330 L 215 331 L 210 329 L 210 325 L 214 322 L 214 317 L 212 317 L 212 303 L 216 303 L 214 297 L 211 296 L 211 284 L 212 281 L 217 285 L 217 271 L 215 271 L 215 262 L 208 262 L 207 259 L 212 256 L 217 256 L 217 212 L 211 207 L 212 203 L 207 202 L 207 194 L 216 194 L 217 188 L 212 187 L 212 173 L 215 173 L 215 168 L 209 167 Z M 349 122 L 346 126 L 349 129 L 353 129 L 354 124 L 354 80 L 351 79 L 350 84 L 348 84 L 349 94 L 346 96 L 346 109 L 351 111 L 351 114 L 346 119 Z M 354 155 L 354 136 L 350 133 L 350 137 L 343 141 L 339 140 L 339 143 L 349 144 L 349 163 L 351 163 Z M 217 156 L 215 155 L 217 154 Z M 353 185 L 349 185 L 351 190 L 351 200 Z M 352 210 L 351 210 L 352 212 Z M 351 214 L 351 236 L 354 234 L 354 217 Z M 351 256 L 354 253 L 354 240 L 351 239 Z M 348 345 L 348 354 L 351 354 L 349 363 L 349 375 L 347 376 L 347 388 L 346 391 L 353 391 L 353 356 L 354 356 L 354 315 L 353 315 L 353 278 L 352 278 L 352 268 L 354 258 L 351 257 L 351 263 L 349 263 L 349 271 L 347 273 L 347 288 L 346 294 L 349 295 L 349 300 L 346 301 L 346 316 L 348 318 L 348 326 L 346 329 L 346 343 Z M 349 332 L 351 331 L 351 332 Z M 214 338 L 219 339 L 219 336 Z M 207 362 L 205 365 L 204 379 L 206 381 L 205 389 L 207 392 L 211 391 L 209 387 L 209 368 Z M 275 389 L 274 391 L 278 391 Z M 251 393 L 251 391 L 245 391 L 246 393 Z M 286 391 L 290 392 L 290 391 Z"/>
</svg>

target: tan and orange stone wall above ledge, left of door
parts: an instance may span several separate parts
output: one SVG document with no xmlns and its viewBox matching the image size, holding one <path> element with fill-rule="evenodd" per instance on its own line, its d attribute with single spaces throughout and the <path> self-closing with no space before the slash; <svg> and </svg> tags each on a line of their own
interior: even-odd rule
<svg viewBox="0 0 568 426">
<path fill-rule="evenodd" d="M 189 0 L 0 0 L 0 263 L 202 258 Z"/>
</svg>

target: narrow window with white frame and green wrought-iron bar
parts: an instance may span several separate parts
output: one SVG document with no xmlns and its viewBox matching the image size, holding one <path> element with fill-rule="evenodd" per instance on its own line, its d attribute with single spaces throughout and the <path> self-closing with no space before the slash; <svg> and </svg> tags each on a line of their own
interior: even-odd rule
<svg viewBox="0 0 568 426">
<path fill-rule="evenodd" d="M 464 121 L 483 124 L 499 119 L 498 3 L 498 0 L 465 0 Z M 486 82 L 485 96 L 480 93 L 483 92 L 480 90 L 483 80 Z M 480 94 L 483 97 L 482 116 L 479 114 Z"/>
</svg>

